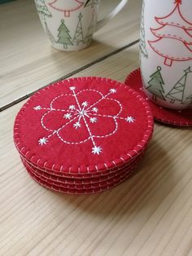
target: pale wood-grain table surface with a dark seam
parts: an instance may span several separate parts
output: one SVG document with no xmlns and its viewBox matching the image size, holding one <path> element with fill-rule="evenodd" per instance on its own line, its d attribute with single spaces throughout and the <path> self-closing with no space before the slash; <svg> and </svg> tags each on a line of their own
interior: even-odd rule
<svg viewBox="0 0 192 256">
<path fill-rule="evenodd" d="M 118 1 L 105 0 L 101 16 Z M 51 192 L 22 166 L 12 139 L 16 113 L 64 77 L 124 82 L 138 67 L 141 0 L 95 33 L 89 48 L 50 47 L 34 4 L 0 6 L 0 255 L 192 255 L 191 129 L 155 124 L 132 179 L 89 196 Z"/>
</svg>

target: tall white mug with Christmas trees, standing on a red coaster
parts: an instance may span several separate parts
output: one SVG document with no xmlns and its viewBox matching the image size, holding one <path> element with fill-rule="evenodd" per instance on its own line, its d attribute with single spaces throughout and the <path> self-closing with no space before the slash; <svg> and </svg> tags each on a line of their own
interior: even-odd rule
<svg viewBox="0 0 192 256">
<path fill-rule="evenodd" d="M 165 108 L 192 107 L 191 0 L 143 0 L 140 60 L 151 100 Z"/>
</svg>

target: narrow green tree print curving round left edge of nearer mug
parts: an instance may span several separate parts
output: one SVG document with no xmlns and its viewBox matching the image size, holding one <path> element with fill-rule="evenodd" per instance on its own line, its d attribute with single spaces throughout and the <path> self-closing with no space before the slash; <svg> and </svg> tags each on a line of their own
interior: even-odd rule
<svg viewBox="0 0 192 256">
<path fill-rule="evenodd" d="M 144 58 L 148 58 L 148 54 L 146 51 L 146 33 L 144 29 L 144 9 L 145 9 L 145 1 L 143 0 L 142 3 L 142 17 L 141 17 L 141 24 L 140 24 L 140 41 L 139 41 L 139 48 Z"/>
</svg>

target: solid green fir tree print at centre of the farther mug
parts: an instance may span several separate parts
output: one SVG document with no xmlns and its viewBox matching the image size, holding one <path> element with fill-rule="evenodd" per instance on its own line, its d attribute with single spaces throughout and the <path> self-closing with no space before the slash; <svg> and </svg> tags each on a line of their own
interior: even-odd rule
<svg viewBox="0 0 192 256">
<path fill-rule="evenodd" d="M 61 24 L 59 26 L 59 34 L 58 34 L 58 41 L 59 43 L 63 44 L 63 48 L 68 49 L 68 46 L 72 46 L 73 43 L 71 41 L 71 36 L 69 34 L 69 30 L 64 24 L 64 20 L 61 20 Z"/>
</svg>

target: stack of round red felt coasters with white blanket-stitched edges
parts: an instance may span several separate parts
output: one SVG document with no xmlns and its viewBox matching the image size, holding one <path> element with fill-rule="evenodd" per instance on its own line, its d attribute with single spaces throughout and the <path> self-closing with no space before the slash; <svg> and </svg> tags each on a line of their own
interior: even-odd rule
<svg viewBox="0 0 192 256">
<path fill-rule="evenodd" d="M 14 141 L 37 183 L 86 194 L 113 188 L 133 173 L 153 126 L 146 99 L 129 86 L 79 77 L 33 95 L 15 118 Z"/>
</svg>

